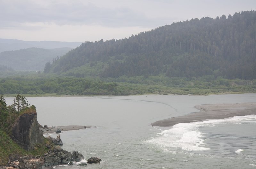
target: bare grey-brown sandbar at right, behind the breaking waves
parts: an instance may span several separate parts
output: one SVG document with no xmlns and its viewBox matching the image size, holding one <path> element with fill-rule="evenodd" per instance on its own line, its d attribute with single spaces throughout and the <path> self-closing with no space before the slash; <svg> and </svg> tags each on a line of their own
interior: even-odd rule
<svg viewBox="0 0 256 169">
<path fill-rule="evenodd" d="M 200 112 L 173 117 L 151 123 L 153 126 L 173 126 L 178 123 L 190 123 L 210 119 L 224 119 L 234 116 L 256 114 L 256 103 L 205 104 L 195 106 Z"/>
</svg>

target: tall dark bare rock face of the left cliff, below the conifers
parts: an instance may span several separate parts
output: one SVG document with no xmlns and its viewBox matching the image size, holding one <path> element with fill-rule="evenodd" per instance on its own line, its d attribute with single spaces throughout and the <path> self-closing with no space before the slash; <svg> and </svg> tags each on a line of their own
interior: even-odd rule
<svg viewBox="0 0 256 169">
<path fill-rule="evenodd" d="M 32 106 L 24 110 L 12 124 L 12 139 L 25 150 L 33 150 L 35 143 L 44 142 L 36 116 L 36 109 Z"/>
</svg>

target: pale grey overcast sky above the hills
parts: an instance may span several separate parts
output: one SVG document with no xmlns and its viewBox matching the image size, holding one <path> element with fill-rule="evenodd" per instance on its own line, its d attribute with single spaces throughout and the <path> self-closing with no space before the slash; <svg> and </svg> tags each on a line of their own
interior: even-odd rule
<svg viewBox="0 0 256 169">
<path fill-rule="evenodd" d="M 0 38 L 105 41 L 246 10 L 256 0 L 0 0 Z"/>
</svg>

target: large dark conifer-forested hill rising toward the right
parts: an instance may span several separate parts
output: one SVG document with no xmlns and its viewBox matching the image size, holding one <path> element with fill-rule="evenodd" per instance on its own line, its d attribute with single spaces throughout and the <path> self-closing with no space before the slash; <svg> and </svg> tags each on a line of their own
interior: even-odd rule
<svg viewBox="0 0 256 169">
<path fill-rule="evenodd" d="M 177 22 L 121 40 L 85 42 L 44 72 L 76 77 L 256 78 L 256 12 Z"/>
</svg>

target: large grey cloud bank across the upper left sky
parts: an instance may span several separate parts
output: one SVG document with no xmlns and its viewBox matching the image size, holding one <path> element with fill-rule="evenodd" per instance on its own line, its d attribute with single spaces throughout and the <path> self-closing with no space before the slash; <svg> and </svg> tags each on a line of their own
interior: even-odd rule
<svg viewBox="0 0 256 169">
<path fill-rule="evenodd" d="M 79 0 L 0 0 L 0 27 L 24 27 L 24 23 L 100 25 L 105 27 L 158 27 L 172 17 L 147 17 L 142 11 L 123 6 L 96 6 Z"/>
</svg>

